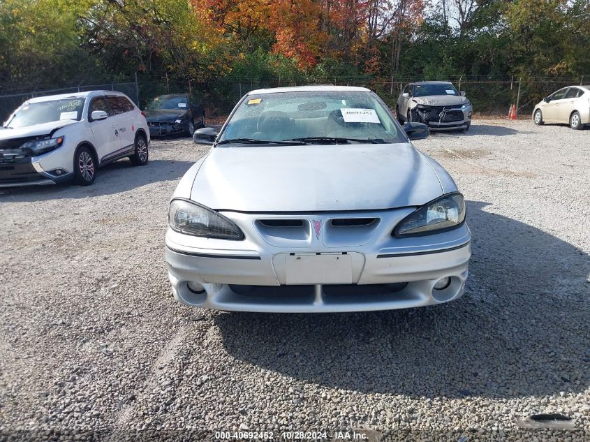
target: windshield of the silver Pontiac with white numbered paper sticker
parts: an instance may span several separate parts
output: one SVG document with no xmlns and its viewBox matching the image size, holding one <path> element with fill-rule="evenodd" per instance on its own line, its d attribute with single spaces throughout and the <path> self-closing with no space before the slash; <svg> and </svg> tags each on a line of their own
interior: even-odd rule
<svg viewBox="0 0 590 442">
<path fill-rule="evenodd" d="M 230 117 L 218 144 L 406 142 L 390 112 L 369 91 L 251 94 Z M 247 140 L 247 141 L 246 141 Z M 293 140 L 293 142 L 287 142 Z"/>
</svg>

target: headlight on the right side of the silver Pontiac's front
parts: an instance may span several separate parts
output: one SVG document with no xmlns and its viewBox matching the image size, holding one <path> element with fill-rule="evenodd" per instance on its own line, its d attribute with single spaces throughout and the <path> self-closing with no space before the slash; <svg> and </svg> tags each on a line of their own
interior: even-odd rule
<svg viewBox="0 0 590 442">
<path fill-rule="evenodd" d="M 406 218 L 393 230 L 397 237 L 430 235 L 461 225 L 465 221 L 465 200 L 461 193 L 450 193 L 428 202 Z"/>
</svg>

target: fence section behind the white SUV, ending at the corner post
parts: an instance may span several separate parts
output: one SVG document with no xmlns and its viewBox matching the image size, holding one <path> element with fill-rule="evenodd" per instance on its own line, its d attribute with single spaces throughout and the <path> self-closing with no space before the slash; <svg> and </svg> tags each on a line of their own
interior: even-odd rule
<svg viewBox="0 0 590 442">
<path fill-rule="evenodd" d="M 108 84 L 80 84 L 79 86 L 64 87 L 61 89 L 43 89 L 35 91 L 27 90 L 11 90 L 8 94 L 2 94 L 0 92 L 0 124 L 2 121 L 10 116 L 10 114 L 18 108 L 24 101 L 30 98 L 47 95 L 58 95 L 58 94 L 71 94 L 73 92 L 82 91 L 119 91 L 126 94 L 135 103 L 139 103 L 138 88 L 135 82 L 126 83 L 108 83 Z"/>
</svg>

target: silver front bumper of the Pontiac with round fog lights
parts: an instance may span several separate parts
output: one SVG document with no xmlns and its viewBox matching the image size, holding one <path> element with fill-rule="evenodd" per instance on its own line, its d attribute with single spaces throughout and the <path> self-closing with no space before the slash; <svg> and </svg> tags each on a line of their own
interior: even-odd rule
<svg viewBox="0 0 590 442">
<path fill-rule="evenodd" d="M 288 246 L 297 237 L 293 232 L 286 235 L 289 240 L 257 235 L 255 218 L 261 215 L 229 212 L 224 215 L 238 223 L 246 240 L 207 240 L 169 228 L 165 258 L 172 293 L 193 307 L 289 313 L 404 309 L 457 299 L 468 274 L 469 228 L 464 224 L 437 235 L 391 237 L 393 226 L 409 212 L 412 209 L 381 213 L 374 231 L 365 236 L 356 232 L 357 240 L 348 241 L 356 245 L 345 245 L 346 235 L 340 233 L 329 240 L 331 233 L 326 231 L 328 240 L 318 242 L 310 235 L 307 246 L 302 242 Z M 339 215 L 316 214 L 309 219 L 328 221 L 334 216 Z M 300 254 L 346 258 L 350 272 L 344 279 L 338 279 L 341 275 L 334 279 L 330 269 L 325 274 L 302 270 L 292 283 L 293 267 L 289 266 L 293 256 Z M 450 277 L 450 285 L 435 290 L 434 284 L 445 277 Z M 205 292 L 193 293 L 189 281 L 199 283 Z"/>
</svg>

